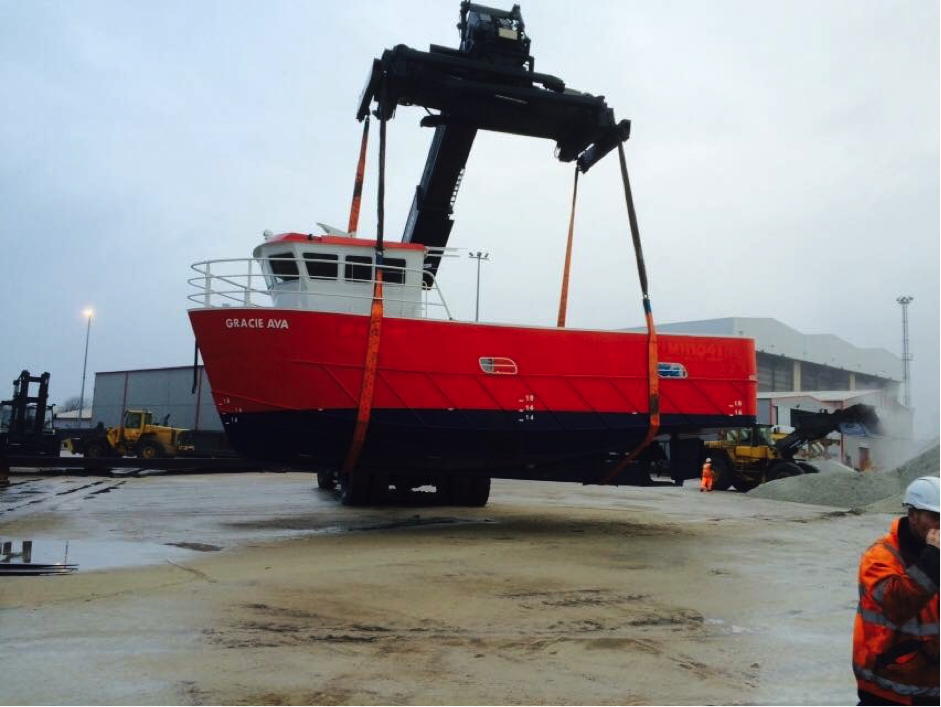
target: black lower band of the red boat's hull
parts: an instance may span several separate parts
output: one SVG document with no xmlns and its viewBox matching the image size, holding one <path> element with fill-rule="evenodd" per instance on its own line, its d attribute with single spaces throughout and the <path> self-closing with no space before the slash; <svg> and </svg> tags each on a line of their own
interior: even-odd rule
<svg viewBox="0 0 941 707">
<path fill-rule="evenodd" d="M 225 414 L 232 446 L 250 459 L 339 469 L 356 410 Z M 661 434 L 746 427 L 746 416 L 664 415 Z M 359 467 L 393 475 L 476 473 L 495 478 L 597 482 L 647 434 L 641 414 L 374 409 Z M 654 461 L 659 446 L 644 459 Z M 645 469 L 646 471 L 646 469 Z"/>
</svg>

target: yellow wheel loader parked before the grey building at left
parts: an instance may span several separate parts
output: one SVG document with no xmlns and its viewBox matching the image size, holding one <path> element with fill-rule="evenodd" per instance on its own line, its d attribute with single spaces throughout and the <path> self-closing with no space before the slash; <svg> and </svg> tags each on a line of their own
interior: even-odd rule
<svg viewBox="0 0 941 707">
<path fill-rule="evenodd" d="M 66 446 L 86 457 L 128 457 L 141 459 L 175 457 L 182 450 L 180 435 L 186 432 L 179 427 L 154 424 L 154 415 L 149 410 L 127 410 L 124 421 L 118 427 L 105 428 L 98 423 L 95 434 L 85 439 L 70 439 Z"/>
</svg>

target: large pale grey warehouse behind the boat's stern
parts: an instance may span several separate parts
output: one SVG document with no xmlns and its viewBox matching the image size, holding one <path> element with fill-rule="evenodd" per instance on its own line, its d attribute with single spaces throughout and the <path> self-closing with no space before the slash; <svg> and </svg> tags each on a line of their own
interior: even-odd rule
<svg viewBox="0 0 941 707">
<path fill-rule="evenodd" d="M 754 339 L 759 424 L 789 427 L 791 410 L 832 412 L 864 403 L 875 407 L 882 435 L 832 435 L 840 461 L 880 469 L 911 456 L 913 410 L 898 400 L 902 359 L 886 349 L 860 348 L 833 334 L 804 334 L 768 317 L 674 322 L 657 330 Z"/>
</svg>

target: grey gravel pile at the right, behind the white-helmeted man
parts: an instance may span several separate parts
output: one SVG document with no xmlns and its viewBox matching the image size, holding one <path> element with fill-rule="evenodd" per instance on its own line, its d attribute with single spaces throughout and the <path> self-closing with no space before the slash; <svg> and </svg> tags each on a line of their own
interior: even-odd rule
<svg viewBox="0 0 941 707">
<path fill-rule="evenodd" d="M 821 469 L 820 474 L 771 481 L 748 495 L 774 501 L 857 508 L 874 513 L 900 513 L 902 495 L 909 483 L 919 476 L 941 476 L 941 445 L 909 459 L 892 471 L 844 472 L 835 468 L 840 466 L 828 463 L 827 472 Z"/>
</svg>

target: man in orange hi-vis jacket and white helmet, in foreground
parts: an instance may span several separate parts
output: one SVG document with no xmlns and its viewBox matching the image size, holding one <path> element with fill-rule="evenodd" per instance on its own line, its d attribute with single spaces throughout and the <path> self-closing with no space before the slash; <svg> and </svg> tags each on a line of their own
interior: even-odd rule
<svg viewBox="0 0 941 707">
<path fill-rule="evenodd" d="M 941 479 L 915 479 L 902 505 L 908 515 L 859 563 L 859 707 L 941 704 Z"/>
</svg>

